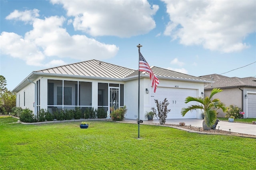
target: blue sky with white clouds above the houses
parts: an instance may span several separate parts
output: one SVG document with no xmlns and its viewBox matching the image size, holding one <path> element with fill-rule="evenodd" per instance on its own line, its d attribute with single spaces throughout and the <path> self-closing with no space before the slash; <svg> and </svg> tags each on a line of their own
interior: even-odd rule
<svg viewBox="0 0 256 170">
<path fill-rule="evenodd" d="M 150 66 L 256 76 L 255 9 L 254 0 L 0 0 L 0 74 L 13 90 L 32 71 L 86 60 L 138 69 L 141 44 Z"/>
</svg>

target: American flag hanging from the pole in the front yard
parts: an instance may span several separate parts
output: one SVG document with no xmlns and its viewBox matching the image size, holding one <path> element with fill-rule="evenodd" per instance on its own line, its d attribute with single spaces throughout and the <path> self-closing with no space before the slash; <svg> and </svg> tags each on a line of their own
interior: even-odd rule
<svg viewBox="0 0 256 170">
<path fill-rule="evenodd" d="M 154 93 L 155 93 L 156 92 L 156 87 L 159 84 L 159 80 L 158 80 L 158 78 L 156 78 L 156 76 L 152 72 L 150 66 L 148 65 L 148 62 L 145 60 L 145 58 L 142 56 L 142 54 L 140 52 L 139 52 L 139 56 L 140 56 L 139 71 L 149 73 L 150 80 L 151 80 L 151 83 L 152 83 L 152 88 L 154 89 Z"/>
</svg>

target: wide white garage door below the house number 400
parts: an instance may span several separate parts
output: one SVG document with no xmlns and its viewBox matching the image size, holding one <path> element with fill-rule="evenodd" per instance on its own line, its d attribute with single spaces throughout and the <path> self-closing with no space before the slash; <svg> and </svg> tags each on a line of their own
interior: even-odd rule
<svg viewBox="0 0 256 170">
<path fill-rule="evenodd" d="M 150 96 L 150 106 L 156 108 L 154 99 L 158 99 L 158 101 L 162 102 L 164 101 L 164 98 L 167 98 L 170 103 L 168 105 L 168 109 L 171 109 L 167 115 L 167 119 L 196 118 L 196 110 L 188 112 L 184 117 L 180 114 L 181 108 L 185 108 L 191 104 L 196 104 L 196 102 L 189 102 L 188 104 L 185 104 L 185 98 L 188 96 L 195 97 L 196 90 L 158 87 L 156 93 L 153 93 Z"/>
</svg>

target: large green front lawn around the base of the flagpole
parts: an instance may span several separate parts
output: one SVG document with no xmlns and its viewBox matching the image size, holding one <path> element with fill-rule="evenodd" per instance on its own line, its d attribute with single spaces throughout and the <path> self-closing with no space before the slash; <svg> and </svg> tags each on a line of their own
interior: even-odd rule
<svg viewBox="0 0 256 170">
<path fill-rule="evenodd" d="M 24 125 L 0 118 L 4 170 L 253 170 L 256 140 L 162 126 L 89 121 Z"/>
</svg>

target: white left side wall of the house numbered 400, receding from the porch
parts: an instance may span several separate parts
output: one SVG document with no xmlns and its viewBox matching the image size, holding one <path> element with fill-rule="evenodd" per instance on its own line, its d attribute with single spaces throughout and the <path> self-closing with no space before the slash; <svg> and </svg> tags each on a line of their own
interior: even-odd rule
<svg viewBox="0 0 256 170">
<path fill-rule="evenodd" d="M 25 106 L 24 106 L 24 92 L 25 92 Z M 28 86 L 18 91 L 16 93 L 16 97 L 17 97 L 16 107 L 21 107 L 23 109 L 28 108 L 34 112 L 34 93 L 35 93 L 35 85 L 33 83 L 28 84 Z"/>
</svg>

